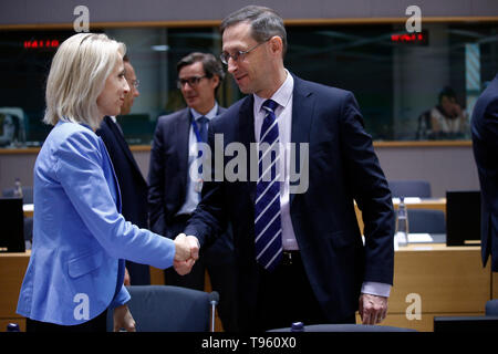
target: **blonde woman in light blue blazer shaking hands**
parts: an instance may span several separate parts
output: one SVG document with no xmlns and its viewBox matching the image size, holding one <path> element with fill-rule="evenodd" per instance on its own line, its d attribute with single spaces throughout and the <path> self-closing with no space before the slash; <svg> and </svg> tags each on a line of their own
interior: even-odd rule
<svg viewBox="0 0 498 354">
<path fill-rule="evenodd" d="M 115 330 L 134 331 L 124 259 L 160 269 L 175 261 L 181 271 L 197 257 L 185 236 L 172 241 L 120 214 L 120 186 L 94 132 L 129 90 L 124 53 L 105 34 L 80 33 L 52 61 L 44 122 L 54 127 L 34 166 L 33 248 L 17 310 L 28 330 L 105 331 L 115 309 Z"/>
</svg>

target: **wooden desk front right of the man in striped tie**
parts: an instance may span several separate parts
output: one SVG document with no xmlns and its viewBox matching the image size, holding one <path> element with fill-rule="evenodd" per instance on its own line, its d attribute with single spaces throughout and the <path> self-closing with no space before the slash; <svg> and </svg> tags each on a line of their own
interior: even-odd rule
<svg viewBox="0 0 498 354">
<path fill-rule="evenodd" d="M 434 316 L 484 315 L 496 287 L 475 246 L 408 244 L 395 252 L 394 269 L 385 325 L 430 332 Z"/>
</svg>

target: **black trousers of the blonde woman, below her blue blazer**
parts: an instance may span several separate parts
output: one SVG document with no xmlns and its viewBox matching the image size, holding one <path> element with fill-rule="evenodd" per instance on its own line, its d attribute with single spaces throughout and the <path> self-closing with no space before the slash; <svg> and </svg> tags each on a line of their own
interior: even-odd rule
<svg viewBox="0 0 498 354">
<path fill-rule="evenodd" d="M 61 325 L 49 322 L 40 322 L 25 319 L 27 332 L 58 332 L 58 333 L 89 333 L 89 332 L 106 332 L 107 330 L 107 311 L 102 312 L 96 317 L 76 325 Z"/>
</svg>

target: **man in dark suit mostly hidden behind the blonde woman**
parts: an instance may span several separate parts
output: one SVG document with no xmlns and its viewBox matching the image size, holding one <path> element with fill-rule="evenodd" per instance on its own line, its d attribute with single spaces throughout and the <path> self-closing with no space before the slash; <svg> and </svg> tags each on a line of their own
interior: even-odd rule
<svg viewBox="0 0 498 354">
<path fill-rule="evenodd" d="M 125 79 L 129 91 L 125 96 L 121 115 L 127 115 L 132 111 L 133 102 L 138 97 L 138 80 L 128 58 L 123 58 Z M 123 201 L 122 214 L 127 221 L 141 228 L 148 229 L 147 215 L 147 183 L 145 181 L 138 165 L 129 150 L 123 131 L 115 117 L 106 116 L 96 134 L 104 140 L 108 155 L 114 166 L 120 191 Z M 149 285 L 151 273 L 148 264 L 138 264 L 126 261 L 126 285 Z"/>
</svg>

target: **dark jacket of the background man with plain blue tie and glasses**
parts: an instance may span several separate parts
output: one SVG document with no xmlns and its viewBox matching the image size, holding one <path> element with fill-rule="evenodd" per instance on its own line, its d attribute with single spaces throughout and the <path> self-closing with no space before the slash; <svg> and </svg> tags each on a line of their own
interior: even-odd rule
<svg viewBox="0 0 498 354">
<path fill-rule="evenodd" d="M 217 114 L 225 111 L 218 106 Z M 151 230 L 163 236 L 167 236 L 167 225 L 186 198 L 190 119 L 188 107 L 160 116 L 154 133 L 148 170 L 148 211 Z"/>
</svg>

